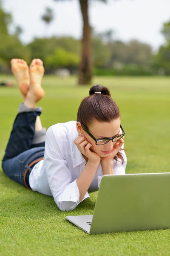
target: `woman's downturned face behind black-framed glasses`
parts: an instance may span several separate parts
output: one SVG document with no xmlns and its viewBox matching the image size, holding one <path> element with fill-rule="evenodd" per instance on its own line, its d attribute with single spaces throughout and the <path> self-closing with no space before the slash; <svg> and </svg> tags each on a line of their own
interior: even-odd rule
<svg viewBox="0 0 170 256">
<path fill-rule="evenodd" d="M 112 138 L 122 133 L 120 132 L 120 118 L 112 120 L 111 122 L 99 122 L 95 120 L 91 125 L 88 125 L 88 130 L 96 139 Z M 108 157 L 116 143 L 110 140 L 104 145 L 96 145 L 95 140 L 93 140 L 87 132 L 82 129 L 81 133 L 84 134 L 88 142 L 92 144 L 90 148 L 91 151 L 97 153 L 100 157 Z"/>
</svg>

